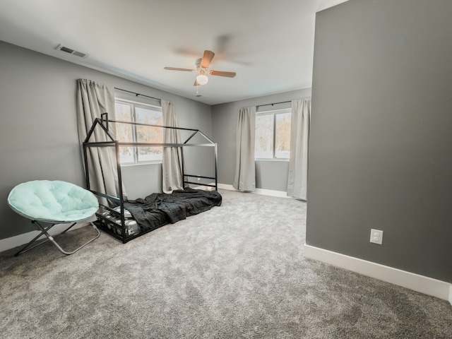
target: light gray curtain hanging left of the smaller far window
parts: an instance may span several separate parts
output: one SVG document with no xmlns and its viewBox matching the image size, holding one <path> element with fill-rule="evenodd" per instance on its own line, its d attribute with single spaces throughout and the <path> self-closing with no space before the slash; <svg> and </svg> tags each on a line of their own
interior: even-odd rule
<svg viewBox="0 0 452 339">
<path fill-rule="evenodd" d="M 254 164 L 254 136 L 256 133 L 256 106 L 239 111 L 236 135 L 236 162 L 234 189 L 256 190 L 256 166 Z"/>
</svg>

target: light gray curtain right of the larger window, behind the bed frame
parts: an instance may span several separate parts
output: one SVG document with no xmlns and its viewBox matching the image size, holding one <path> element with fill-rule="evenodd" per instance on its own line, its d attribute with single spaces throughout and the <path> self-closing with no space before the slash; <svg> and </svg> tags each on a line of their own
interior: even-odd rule
<svg viewBox="0 0 452 339">
<path fill-rule="evenodd" d="M 179 127 L 176 109 L 171 102 L 162 100 L 163 124 Z M 178 129 L 163 129 L 163 143 L 181 143 Z M 171 193 L 174 189 L 183 189 L 182 148 L 164 147 L 162 150 L 162 191 Z"/>
</svg>

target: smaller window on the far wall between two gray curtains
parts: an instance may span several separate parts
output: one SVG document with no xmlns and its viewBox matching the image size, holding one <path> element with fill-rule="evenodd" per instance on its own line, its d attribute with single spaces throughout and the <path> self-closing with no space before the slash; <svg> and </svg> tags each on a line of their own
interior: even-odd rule
<svg viewBox="0 0 452 339">
<path fill-rule="evenodd" d="M 256 113 L 256 159 L 289 159 L 291 109 Z"/>
</svg>

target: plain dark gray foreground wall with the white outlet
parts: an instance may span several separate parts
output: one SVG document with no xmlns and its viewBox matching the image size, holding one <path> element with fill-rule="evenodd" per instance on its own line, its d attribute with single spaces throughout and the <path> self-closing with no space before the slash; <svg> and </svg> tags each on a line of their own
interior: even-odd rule
<svg viewBox="0 0 452 339">
<path fill-rule="evenodd" d="M 450 0 L 317 13 L 307 244 L 452 283 L 451 17 Z"/>
</svg>

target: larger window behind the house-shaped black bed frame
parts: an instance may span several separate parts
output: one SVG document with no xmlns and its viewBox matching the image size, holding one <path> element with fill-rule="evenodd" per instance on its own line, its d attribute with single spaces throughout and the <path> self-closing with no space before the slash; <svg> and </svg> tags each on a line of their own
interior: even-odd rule
<svg viewBox="0 0 452 339">
<path fill-rule="evenodd" d="M 163 124 L 162 108 L 142 102 L 116 98 L 114 102 L 117 121 L 131 121 L 141 124 Z M 117 139 L 131 143 L 162 143 L 163 129 L 153 126 L 116 124 Z M 162 161 L 162 147 L 121 147 L 121 165 L 153 163 Z"/>
</svg>

